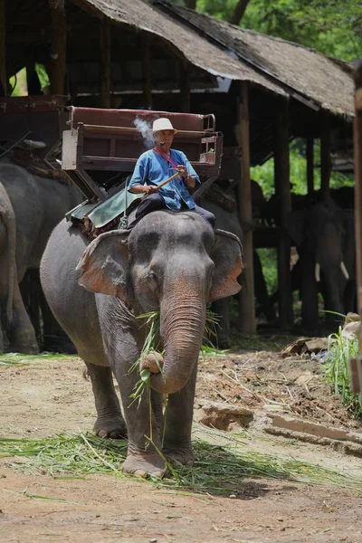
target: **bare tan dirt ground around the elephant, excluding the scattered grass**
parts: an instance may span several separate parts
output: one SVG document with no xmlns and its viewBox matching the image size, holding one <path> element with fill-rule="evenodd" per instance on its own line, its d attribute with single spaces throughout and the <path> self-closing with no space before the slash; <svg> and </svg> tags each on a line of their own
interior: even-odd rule
<svg viewBox="0 0 362 543">
<path fill-rule="evenodd" d="M 277 342 L 276 342 L 277 343 Z M 284 341 L 285 344 L 285 341 Z M 256 410 L 282 409 L 359 431 L 321 380 L 318 361 L 282 359 L 272 350 L 234 348 L 200 359 L 195 406 L 205 399 Z M 36 359 L 0 367 L 0 436 L 78 433 L 94 422 L 90 383 L 79 358 Z M 199 433 L 199 431 L 198 431 Z M 246 447 L 360 477 L 362 460 L 308 443 L 265 438 L 251 428 Z M 195 435 L 197 438 L 197 435 Z M 0 460 L 0 541 L 6 543 L 360 543 L 361 497 L 355 491 L 293 481 L 240 481 L 233 497 L 176 492 L 111 475 L 54 480 L 14 471 Z M 40 500 L 46 496 L 54 500 Z"/>
</svg>

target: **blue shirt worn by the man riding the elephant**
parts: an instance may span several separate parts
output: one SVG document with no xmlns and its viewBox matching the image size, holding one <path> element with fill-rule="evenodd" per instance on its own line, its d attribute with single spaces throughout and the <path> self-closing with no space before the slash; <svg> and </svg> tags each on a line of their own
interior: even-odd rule
<svg viewBox="0 0 362 543">
<path fill-rule="evenodd" d="M 176 149 L 170 149 L 170 158 L 175 162 L 176 166 L 185 166 L 188 174 L 195 178 L 196 183 L 200 183 L 200 179 L 185 153 L 176 151 Z M 153 150 L 146 151 L 146 153 L 143 153 L 138 158 L 129 183 L 129 189 L 136 185 L 145 184 L 157 186 L 175 173 L 175 168 L 165 157 L 161 157 Z M 188 192 L 182 176 L 176 177 L 176 179 L 173 179 L 173 181 L 160 188 L 158 192 L 163 196 L 168 209 L 172 211 L 181 209 L 183 202 L 185 202 L 189 209 L 195 208 L 195 202 Z"/>
</svg>

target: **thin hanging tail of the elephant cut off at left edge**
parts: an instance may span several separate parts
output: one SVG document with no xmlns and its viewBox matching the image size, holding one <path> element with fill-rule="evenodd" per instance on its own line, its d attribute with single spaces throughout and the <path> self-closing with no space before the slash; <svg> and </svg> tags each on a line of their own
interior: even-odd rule
<svg viewBox="0 0 362 543">
<path fill-rule="evenodd" d="M 6 242 L 8 252 L 8 291 L 6 300 L 6 321 L 10 325 L 14 316 L 14 290 L 17 283 L 16 271 L 16 224 L 13 205 L 7 195 L 5 188 L 1 191 L 3 200 L 2 219 L 6 227 Z"/>
</svg>

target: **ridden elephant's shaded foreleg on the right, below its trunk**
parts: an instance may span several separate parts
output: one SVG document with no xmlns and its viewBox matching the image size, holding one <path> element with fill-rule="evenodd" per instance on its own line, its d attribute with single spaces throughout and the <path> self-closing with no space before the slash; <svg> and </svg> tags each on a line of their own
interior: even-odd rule
<svg viewBox="0 0 362 543">
<path fill-rule="evenodd" d="M 170 462 L 191 466 L 194 452 L 191 444 L 191 430 L 194 414 L 194 398 L 197 367 L 186 386 L 168 396 L 165 413 L 163 452 Z"/>
</svg>

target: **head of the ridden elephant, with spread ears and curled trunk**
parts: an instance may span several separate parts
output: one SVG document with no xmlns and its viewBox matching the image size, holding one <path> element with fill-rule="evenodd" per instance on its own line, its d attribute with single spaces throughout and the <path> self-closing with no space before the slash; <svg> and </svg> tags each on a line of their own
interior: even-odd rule
<svg viewBox="0 0 362 543">
<path fill-rule="evenodd" d="M 151 378 L 163 394 L 191 375 L 205 329 L 206 304 L 240 291 L 242 246 L 193 213 L 153 212 L 134 229 L 101 234 L 78 268 L 89 291 L 117 297 L 135 315 L 160 310 L 164 375 Z"/>
</svg>

